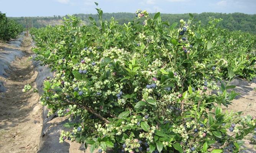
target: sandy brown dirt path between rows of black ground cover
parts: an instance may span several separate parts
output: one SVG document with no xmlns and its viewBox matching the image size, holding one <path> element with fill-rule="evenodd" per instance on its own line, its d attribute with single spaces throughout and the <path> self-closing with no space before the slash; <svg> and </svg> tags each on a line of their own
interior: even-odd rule
<svg viewBox="0 0 256 153">
<path fill-rule="evenodd" d="M 20 48 L 9 44 L 0 44 L 0 47 L 18 49 L 25 54 L 11 63 L 8 78 L 0 77 L 7 88 L 0 93 L 0 152 L 36 153 L 42 129 L 42 107 L 38 93 L 22 92 L 24 85 L 34 85 L 37 76 L 28 58 L 33 54 L 31 38 L 25 37 Z"/>
</svg>

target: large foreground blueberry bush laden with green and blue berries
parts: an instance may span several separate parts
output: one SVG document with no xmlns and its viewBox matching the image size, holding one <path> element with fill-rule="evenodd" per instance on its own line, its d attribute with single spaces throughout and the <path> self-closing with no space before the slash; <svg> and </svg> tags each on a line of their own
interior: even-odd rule
<svg viewBox="0 0 256 153">
<path fill-rule="evenodd" d="M 119 25 L 97 12 L 100 22 L 90 18 L 90 26 L 69 16 L 33 31 L 37 59 L 55 71 L 44 79 L 41 103 L 49 116 L 69 116 L 60 143 L 76 140 L 98 153 L 238 152 L 256 119 L 222 111 L 244 68 L 220 58 L 230 47 L 222 36 L 192 25 L 191 14 L 170 25 L 160 13 L 138 10 Z"/>
</svg>

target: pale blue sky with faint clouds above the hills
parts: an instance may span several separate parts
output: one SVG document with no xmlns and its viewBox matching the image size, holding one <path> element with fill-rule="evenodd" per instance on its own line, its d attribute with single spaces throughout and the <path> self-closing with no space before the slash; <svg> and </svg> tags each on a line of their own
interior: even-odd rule
<svg viewBox="0 0 256 153">
<path fill-rule="evenodd" d="M 7 16 L 53 16 L 75 13 L 96 14 L 95 3 L 103 12 L 150 13 L 219 12 L 256 14 L 256 0 L 0 0 L 0 11 Z"/>
</svg>

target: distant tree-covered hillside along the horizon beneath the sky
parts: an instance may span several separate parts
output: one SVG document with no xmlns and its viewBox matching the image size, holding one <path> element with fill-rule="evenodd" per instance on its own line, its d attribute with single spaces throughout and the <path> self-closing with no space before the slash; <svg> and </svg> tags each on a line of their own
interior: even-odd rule
<svg viewBox="0 0 256 153">
<path fill-rule="evenodd" d="M 244 13 L 193 13 L 195 20 L 194 22 L 201 21 L 203 25 L 207 24 L 211 18 L 222 18 L 220 22 L 220 27 L 230 29 L 230 30 L 241 30 L 250 33 L 256 33 L 256 15 L 248 15 Z M 67 16 L 67 15 L 66 15 Z M 85 24 L 90 23 L 89 16 L 93 17 L 98 21 L 98 16 L 94 14 L 74 14 L 83 20 Z M 123 24 L 128 21 L 134 20 L 134 13 L 103 13 L 104 20 L 110 20 L 114 17 L 118 23 Z M 151 14 L 154 16 L 154 14 Z M 169 21 L 170 23 L 178 22 L 180 19 L 188 20 L 189 14 L 161 14 L 162 20 Z M 48 24 L 56 25 L 61 24 L 61 16 L 51 16 L 51 17 L 28 17 L 28 26 L 34 28 L 44 27 Z M 18 23 L 26 25 L 25 17 L 13 17 L 13 20 Z"/>
</svg>

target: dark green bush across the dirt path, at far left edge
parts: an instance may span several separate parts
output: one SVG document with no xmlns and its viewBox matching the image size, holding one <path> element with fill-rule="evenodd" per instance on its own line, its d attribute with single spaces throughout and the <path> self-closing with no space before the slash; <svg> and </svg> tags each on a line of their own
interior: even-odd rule
<svg viewBox="0 0 256 153">
<path fill-rule="evenodd" d="M 23 31 L 23 26 L 10 20 L 5 13 L 0 12 L 0 40 L 8 41 Z"/>
</svg>

